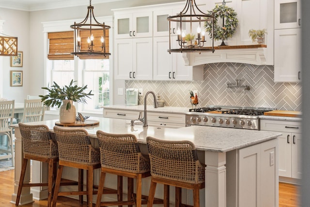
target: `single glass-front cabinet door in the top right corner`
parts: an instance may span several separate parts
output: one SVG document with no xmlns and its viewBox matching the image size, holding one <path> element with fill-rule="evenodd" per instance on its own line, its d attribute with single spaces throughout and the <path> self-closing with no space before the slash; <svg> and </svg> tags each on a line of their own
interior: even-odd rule
<svg viewBox="0 0 310 207">
<path fill-rule="evenodd" d="M 301 0 L 275 0 L 275 29 L 301 27 Z"/>
</svg>

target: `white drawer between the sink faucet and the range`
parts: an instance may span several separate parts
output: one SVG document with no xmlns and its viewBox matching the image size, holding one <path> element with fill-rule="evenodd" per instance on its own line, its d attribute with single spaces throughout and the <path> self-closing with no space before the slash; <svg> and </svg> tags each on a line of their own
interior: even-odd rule
<svg viewBox="0 0 310 207">
<path fill-rule="evenodd" d="M 147 120 L 154 122 L 185 124 L 185 114 L 148 112 Z"/>
</svg>

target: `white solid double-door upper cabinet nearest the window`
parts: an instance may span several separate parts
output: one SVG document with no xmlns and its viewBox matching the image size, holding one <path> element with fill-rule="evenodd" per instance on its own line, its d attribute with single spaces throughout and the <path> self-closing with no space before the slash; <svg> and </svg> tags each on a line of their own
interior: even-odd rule
<svg viewBox="0 0 310 207">
<path fill-rule="evenodd" d="M 114 76 L 118 80 L 153 79 L 153 38 L 116 39 Z"/>
</svg>

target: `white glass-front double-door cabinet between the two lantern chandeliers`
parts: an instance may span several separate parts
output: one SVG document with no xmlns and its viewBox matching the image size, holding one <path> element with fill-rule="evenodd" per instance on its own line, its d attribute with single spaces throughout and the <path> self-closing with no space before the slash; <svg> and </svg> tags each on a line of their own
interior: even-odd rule
<svg viewBox="0 0 310 207">
<path fill-rule="evenodd" d="M 115 39 L 152 37 L 152 12 L 134 12 L 114 16 Z"/>
</svg>

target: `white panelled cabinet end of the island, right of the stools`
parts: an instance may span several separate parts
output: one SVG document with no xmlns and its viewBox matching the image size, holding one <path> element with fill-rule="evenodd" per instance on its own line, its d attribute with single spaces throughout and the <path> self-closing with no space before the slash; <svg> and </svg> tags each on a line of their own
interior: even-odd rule
<svg viewBox="0 0 310 207">
<path fill-rule="evenodd" d="M 252 145 L 226 154 L 229 207 L 279 205 L 278 140 Z M 233 162 L 233 159 L 236 160 Z"/>
</svg>

